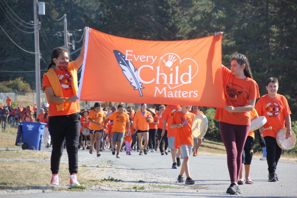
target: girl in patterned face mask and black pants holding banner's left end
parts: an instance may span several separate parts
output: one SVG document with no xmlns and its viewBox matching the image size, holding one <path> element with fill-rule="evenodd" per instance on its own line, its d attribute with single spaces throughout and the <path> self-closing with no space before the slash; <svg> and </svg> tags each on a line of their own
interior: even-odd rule
<svg viewBox="0 0 297 198">
<path fill-rule="evenodd" d="M 85 41 L 87 29 L 88 27 L 84 28 L 83 41 Z M 56 48 L 52 52 L 48 71 L 43 75 L 43 89 L 49 102 L 49 131 L 53 144 L 50 169 L 51 184 L 54 185 L 59 184 L 58 172 L 64 139 L 66 139 L 68 153 L 70 185 L 80 185 L 76 178 L 80 137 L 80 104 L 76 95 L 78 93 L 77 70 L 83 60 L 84 42 L 80 55 L 72 62 L 69 62 L 69 53 L 66 49 Z"/>
</svg>

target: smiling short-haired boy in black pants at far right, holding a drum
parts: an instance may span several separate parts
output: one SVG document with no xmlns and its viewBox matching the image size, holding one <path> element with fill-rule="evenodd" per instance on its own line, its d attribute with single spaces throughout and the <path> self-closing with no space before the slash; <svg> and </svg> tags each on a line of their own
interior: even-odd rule
<svg viewBox="0 0 297 198">
<path fill-rule="evenodd" d="M 272 127 L 271 130 L 262 132 L 266 143 L 267 164 L 269 172 L 269 182 L 276 182 L 278 176 L 275 174 L 278 160 L 281 157 L 282 149 L 276 142 L 276 134 L 279 129 L 285 128 L 286 123 L 286 139 L 291 137 L 291 110 L 286 97 L 278 94 L 278 79 L 271 77 L 266 81 L 266 90 L 268 94 L 260 97 L 255 105 L 259 116 L 265 116 L 267 119 L 264 128 Z"/>
</svg>

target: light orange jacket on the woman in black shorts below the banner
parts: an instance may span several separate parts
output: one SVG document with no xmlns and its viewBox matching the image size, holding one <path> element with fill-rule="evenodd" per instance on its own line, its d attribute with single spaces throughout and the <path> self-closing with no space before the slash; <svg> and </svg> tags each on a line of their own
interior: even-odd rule
<svg viewBox="0 0 297 198">
<path fill-rule="evenodd" d="M 150 116 L 150 121 L 147 121 L 147 117 Z M 133 128 L 138 128 L 140 131 L 148 131 L 149 130 L 149 123 L 153 122 L 152 114 L 144 110 L 144 115 L 142 115 L 141 110 L 137 111 L 134 115 L 133 119 Z"/>
</svg>

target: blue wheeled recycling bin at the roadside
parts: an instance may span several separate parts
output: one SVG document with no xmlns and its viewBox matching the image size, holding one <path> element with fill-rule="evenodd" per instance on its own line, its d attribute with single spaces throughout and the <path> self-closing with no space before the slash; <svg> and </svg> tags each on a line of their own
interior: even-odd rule
<svg viewBox="0 0 297 198">
<path fill-rule="evenodd" d="M 22 149 L 39 150 L 41 149 L 42 134 L 46 123 L 21 123 Z"/>
</svg>

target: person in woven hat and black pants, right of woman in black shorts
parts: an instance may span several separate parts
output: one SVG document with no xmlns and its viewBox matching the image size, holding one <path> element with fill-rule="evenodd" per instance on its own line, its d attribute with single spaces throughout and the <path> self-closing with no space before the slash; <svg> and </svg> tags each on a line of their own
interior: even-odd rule
<svg viewBox="0 0 297 198">
<path fill-rule="evenodd" d="M 159 124 L 159 119 L 156 115 L 156 107 L 148 108 L 148 111 L 153 116 L 153 122 L 149 123 L 149 149 L 150 152 L 155 153 L 155 146 L 156 146 L 156 134 Z"/>
</svg>

